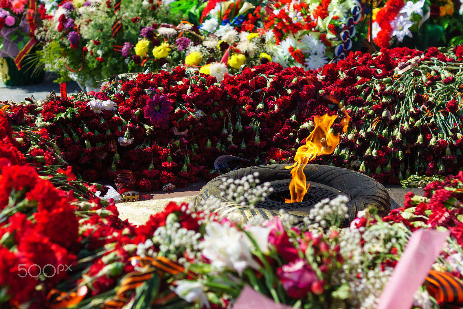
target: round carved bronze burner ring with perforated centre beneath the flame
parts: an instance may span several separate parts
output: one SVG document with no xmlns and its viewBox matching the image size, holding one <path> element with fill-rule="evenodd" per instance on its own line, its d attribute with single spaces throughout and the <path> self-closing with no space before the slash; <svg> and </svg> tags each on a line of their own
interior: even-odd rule
<svg viewBox="0 0 463 309">
<path fill-rule="evenodd" d="M 219 216 L 227 217 L 232 213 L 238 214 L 243 222 L 256 215 L 272 219 L 275 216 L 280 216 L 279 211 L 283 209 L 285 212 L 302 219 L 310 215 L 310 210 L 320 200 L 333 199 L 339 194 L 343 194 L 349 198 L 346 203 L 349 209 L 349 218 L 344 220 L 343 226 L 348 226 L 356 218 L 357 212 L 367 206 L 375 206 L 378 209 L 378 214 L 382 216 L 389 212 L 391 200 L 388 192 L 379 182 L 367 175 L 346 168 L 317 164 L 307 164 L 304 167 L 307 182 L 310 182 L 307 198 L 300 203 L 286 204 L 284 197 L 289 196 L 291 173 L 288 167 L 290 166 L 291 164 L 261 165 L 240 168 L 220 175 L 201 189 L 196 198 L 197 210 L 201 210 L 201 206 L 209 196 L 215 195 L 221 202 L 213 212 Z M 269 181 L 274 187 L 274 192 L 265 201 L 259 202 L 254 208 L 249 209 L 237 201 L 219 197 L 221 191 L 219 186 L 222 179 L 241 179 L 254 172 L 259 172 L 261 183 Z"/>
</svg>

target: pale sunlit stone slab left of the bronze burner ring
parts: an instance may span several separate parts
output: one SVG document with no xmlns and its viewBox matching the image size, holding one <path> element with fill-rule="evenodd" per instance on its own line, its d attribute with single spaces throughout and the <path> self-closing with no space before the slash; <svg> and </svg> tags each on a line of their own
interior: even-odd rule
<svg viewBox="0 0 463 309">
<path fill-rule="evenodd" d="M 118 203 L 116 207 L 119 211 L 120 219 L 128 219 L 134 225 L 143 225 L 150 219 L 151 215 L 162 212 L 170 201 L 181 204 L 194 202 L 195 200 L 196 195 L 193 195 L 162 200 L 140 200 L 138 202 Z"/>
</svg>

